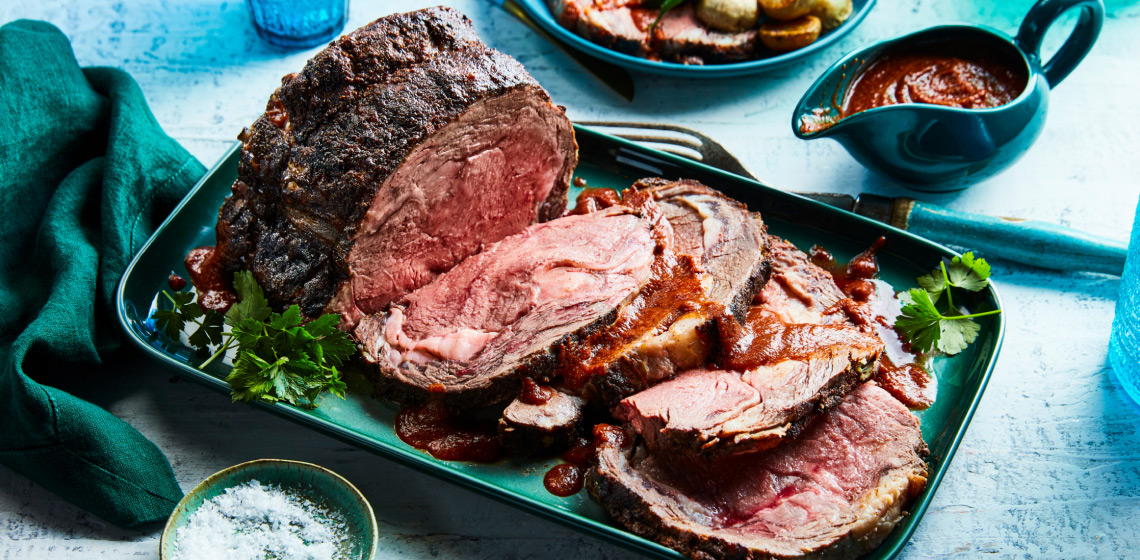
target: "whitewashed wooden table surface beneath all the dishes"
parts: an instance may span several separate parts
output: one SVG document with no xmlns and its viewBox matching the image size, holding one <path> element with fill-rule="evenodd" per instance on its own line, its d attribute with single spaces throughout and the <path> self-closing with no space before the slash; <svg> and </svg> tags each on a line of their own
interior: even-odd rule
<svg viewBox="0 0 1140 560">
<path fill-rule="evenodd" d="M 280 76 L 315 50 L 261 43 L 230 0 L 3 0 L 0 23 L 59 26 L 83 65 L 119 66 L 158 122 L 207 167 L 263 109 Z M 431 1 L 352 0 L 349 29 Z M 881 0 L 811 62 L 758 78 L 685 82 L 637 75 L 632 104 L 483 0 L 450 2 L 515 56 L 577 120 L 667 121 L 703 130 L 771 184 L 913 194 L 872 176 L 830 140 L 803 143 L 792 105 L 846 51 L 945 22 L 1016 32 L 1027 0 Z M 1052 96 L 1044 132 L 1009 171 L 969 190 L 919 197 L 959 210 L 1052 221 L 1126 238 L 1140 192 L 1140 6 L 1109 2 L 1100 41 Z M 1054 34 L 1059 35 L 1059 33 Z M 1058 39 L 1053 36 L 1052 39 Z M 1056 41 L 1053 41 L 1056 44 Z M 50 76 L 44 76 L 50 79 Z M 994 262 L 1009 330 L 996 372 L 906 558 L 1140 557 L 1140 407 L 1106 364 L 1118 278 Z M 184 489 L 258 457 L 311 461 L 367 494 L 378 558 L 635 558 L 369 453 L 230 404 L 144 359 L 75 392 L 130 422 L 170 457 Z M 0 469 L 5 560 L 157 558 L 158 534 L 116 529 Z"/>
</svg>

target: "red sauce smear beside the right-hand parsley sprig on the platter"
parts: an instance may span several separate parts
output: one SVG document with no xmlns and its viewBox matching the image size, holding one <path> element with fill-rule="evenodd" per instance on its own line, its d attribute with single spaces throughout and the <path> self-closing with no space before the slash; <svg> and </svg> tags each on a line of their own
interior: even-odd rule
<svg viewBox="0 0 1140 560">
<path fill-rule="evenodd" d="M 854 303 L 842 303 L 847 315 L 856 323 L 874 326 L 887 344 L 876 382 L 904 405 L 927 408 L 934 404 L 936 395 L 934 376 L 919 363 L 920 357 L 911 352 L 910 344 L 894 331 L 897 309 L 889 306 L 897 306 L 897 302 L 893 298 L 876 298 L 878 290 L 872 281 L 879 275 L 879 262 L 874 255 L 885 242 L 883 237 L 879 237 L 870 249 L 846 263 L 837 262 L 830 252 L 819 245 L 812 247 L 808 254 L 812 262 L 830 271 L 840 290 L 854 300 Z"/>
</svg>

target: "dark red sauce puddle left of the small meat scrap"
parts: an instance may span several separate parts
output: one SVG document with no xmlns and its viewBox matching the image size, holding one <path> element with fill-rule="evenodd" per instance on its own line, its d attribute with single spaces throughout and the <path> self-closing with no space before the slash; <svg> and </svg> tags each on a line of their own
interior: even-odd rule
<svg viewBox="0 0 1140 560">
<path fill-rule="evenodd" d="M 494 421 L 462 416 L 441 405 L 400 408 L 396 435 L 443 461 L 494 463 L 504 456 Z"/>
</svg>

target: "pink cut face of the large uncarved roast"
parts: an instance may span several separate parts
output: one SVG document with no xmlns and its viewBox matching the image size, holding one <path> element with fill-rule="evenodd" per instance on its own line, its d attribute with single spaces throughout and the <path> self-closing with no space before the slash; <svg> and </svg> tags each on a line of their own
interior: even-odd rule
<svg viewBox="0 0 1140 560">
<path fill-rule="evenodd" d="M 350 323 L 380 311 L 537 221 L 569 171 L 568 127 L 557 107 L 518 90 L 477 103 L 413 151 L 372 201 L 335 310 Z"/>
</svg>

